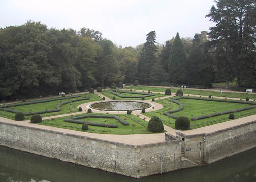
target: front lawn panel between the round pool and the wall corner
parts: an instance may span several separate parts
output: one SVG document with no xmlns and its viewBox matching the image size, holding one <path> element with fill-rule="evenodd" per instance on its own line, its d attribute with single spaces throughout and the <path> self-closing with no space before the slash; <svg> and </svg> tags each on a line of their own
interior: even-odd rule
<svg viewBox="0 0 256 182">
<path fill-rule="evenodd" d="M 92 113 L 92 114 L 100 115 L 99 113 Z M 84 114 L 79 114 L 79 115 L 76 115 L 75 117 L 81 116 L 81 115 L 84 115 Z M 110 115 L 110 114 L 104 114 L 104 115 Z M 85 132 L 90 132 L 90 133 L 102 133 L 102 134 L 150 134 L 151 133 L 152 134 L 152 132 L 149 132 L 147 130 L 147 123 L 148 123 L 147 121 L 144 121 L 134 115 L 119 114 L 118 116 L 123 119 L 126 118 L 126 121 L 129 122 L 130 125 L 125 126 L 115 119 L 106 119 L 106 118 L 84 118 L 81 120 L 91 121 L 91 122 L 100 122 L 100 123 L 109 123 L 109 124 L 118 124 L 118 128 L 107 128 L 107 127 L 89 125 L 88 126 L 89 129 L 86 130 Z M 83 131 L 82 124 L 65 122 L 64 119 L 67 119 L 67 118 L 71 118 L 71 116 L 56 118 L 55 120 L 51 120 L 51 119 L 43 120 L 43 122 L 39 124 L 65 128 L 65 129 L 72 129 L 77 131 Z"/>
</svg>

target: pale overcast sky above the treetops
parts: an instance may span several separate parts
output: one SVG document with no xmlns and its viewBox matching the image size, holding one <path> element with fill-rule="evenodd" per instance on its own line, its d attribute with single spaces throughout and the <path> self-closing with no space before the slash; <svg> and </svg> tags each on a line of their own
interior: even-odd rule
<svg viewBox="0 0 256 182">
<path fill-rule="evenodd" d="M 214 26 L 205 15 L 214 0 L 0 0 L 0 27 L 40 21 L 48 28 L 98 30 L 122 47 L 139 45 L 156 31 L 164 44 L 179 32 L 193 37 Z"/>
</svg>

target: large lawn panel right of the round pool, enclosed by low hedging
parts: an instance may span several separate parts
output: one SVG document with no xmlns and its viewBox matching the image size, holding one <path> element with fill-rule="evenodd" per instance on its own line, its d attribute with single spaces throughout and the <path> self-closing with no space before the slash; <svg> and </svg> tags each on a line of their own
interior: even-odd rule
<svg viewBox="0 0 256 182">
<path fill-rule="evenodd" d="M 175 128 L 175 119 L 169 118 L 163 115 L 163 112 L 168 110 L 175 110 L 179 106 L 175 103 L 171 103 L 168 101 L 169 99 L 161 99 L 156 102 L 164 105 L 164 108 L 161 110 L 147 112 L 144 115 L 148 117 L 157 116 L 160 117 L 163 123 L 169 127 Z M 181 99 L 179 100 L 184 104 L 184 109 L 182 111 L 173 113 L 176 116 L 187 116 L 189 119 L 195 116 L 201 116 L 206 114 L 212 114 L 215 112 L 222 112 L 237 108 L 246 107 L 246 104 L 237 104 L 237 103 L 226 103 L 226 102 L 215 102 L 215 101 L 201 101 L 201 100 L 193 100 L 193 99 Z M 248 106 L 248 105 L 247 105 Z M 246 111 L 236 112 L 234 113 L 235 119 L 250 116 L 256 114 L 256 109 L 250 109 Z M 200 119 L 196 121 L 190 121 L 191 127 L 190 129 L 196 129 L 199 127 L 209 126 L 212 124 L 217 124 L 220 122 L 229 121 L 229 114 L 210 117 L 206 119 Z"/>
</svg>

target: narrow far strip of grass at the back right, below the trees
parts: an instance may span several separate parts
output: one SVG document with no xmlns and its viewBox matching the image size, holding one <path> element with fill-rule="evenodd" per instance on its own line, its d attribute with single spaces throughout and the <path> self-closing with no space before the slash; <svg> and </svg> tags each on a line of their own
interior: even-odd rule
<svg viewBox="0 0 256 182">
<path fill-rule="evenodd" d="M 125 87 L 125 89 L 132 89 L 132 90 L 145 90 L 145 91 L 155 91 L 155 92 L 165 92 L 166 88 L 161 87 L 147 87 L 147 86 L 129 86 Z M 172 93 L 176 93 L 178 89 L 172 89 Z M 217 96 L 217 97 L 229 97 L 229 98 L 241 98 L 245 99 L 248 97 L 249 99 L 256 100 L 256 94 L 252 93 L 236 93 L 236 92 L 223 92 L 220 94 L 220 91 L 209 91 L 205 89 L 200 90 L 192 90 L 192 89 L 182 89 L 184 94 L 195 94 L 195 95 L 201 95 L 201 96 Z"/>
</svg>

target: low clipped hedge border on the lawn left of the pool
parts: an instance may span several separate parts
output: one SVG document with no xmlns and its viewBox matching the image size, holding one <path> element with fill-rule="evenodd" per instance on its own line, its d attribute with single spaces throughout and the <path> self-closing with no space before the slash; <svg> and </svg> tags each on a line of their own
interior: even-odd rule
<svg viewBox="0 0 256 182">
<path fill-rule="evenodd" d="M 51 101 L 57 101 L 57 100 L 63 100 L 63 99 L 77 98 L 77 97 L 81 97 L 81 96 L 79 95 L 79 96 L 71 96 L 71 97 L 68 97 L 68 98 L 56 98 L 56 99 L 42 100 L 42 101 L 36 101 L 36 102 L 34 101 L 34 102 L 28 102 L 28 103 L 18 103 L 16 105 L 8 105 L 8 108 L 11 107 L 11 106 L 24 106 L 24 105 L 45 103 L 45 102 L 51 102 Z M 71 102 L 83 101 L 83 100 L 89 100 L 89 99 L 90 99 L 89 97 L 85 97 L 85 98 L 81 98 L 81 99 L 75 99 L 75 100 L 72 100 L 72 101 L 62 102 L 60 104 L 57 104 L 56 109 L 50 109 L 50 110 L 45 110 L 45 111 L 37 111 L 37 112 L 31 112 L 31 113 L 26 113 L 26 112 L 22 112 L 22 113 L 25 116 L 30 116 L 30 115 L 33 115 L 33 114 L 44 114 L 44 113 L 51 113 L 51 112 L 59 112 L 59 111 L 61 111 L 60 107 L 62 105 L 65 105 L 65 104 L 68 104 L 68 103 L 71 103 Z M 18 110 L 8 109 L 8 108 L 0 107 L 0 110 L 11 112 L 11 113 L 18 113 L 18 112 L 20 112 Z"/>
</svg>

